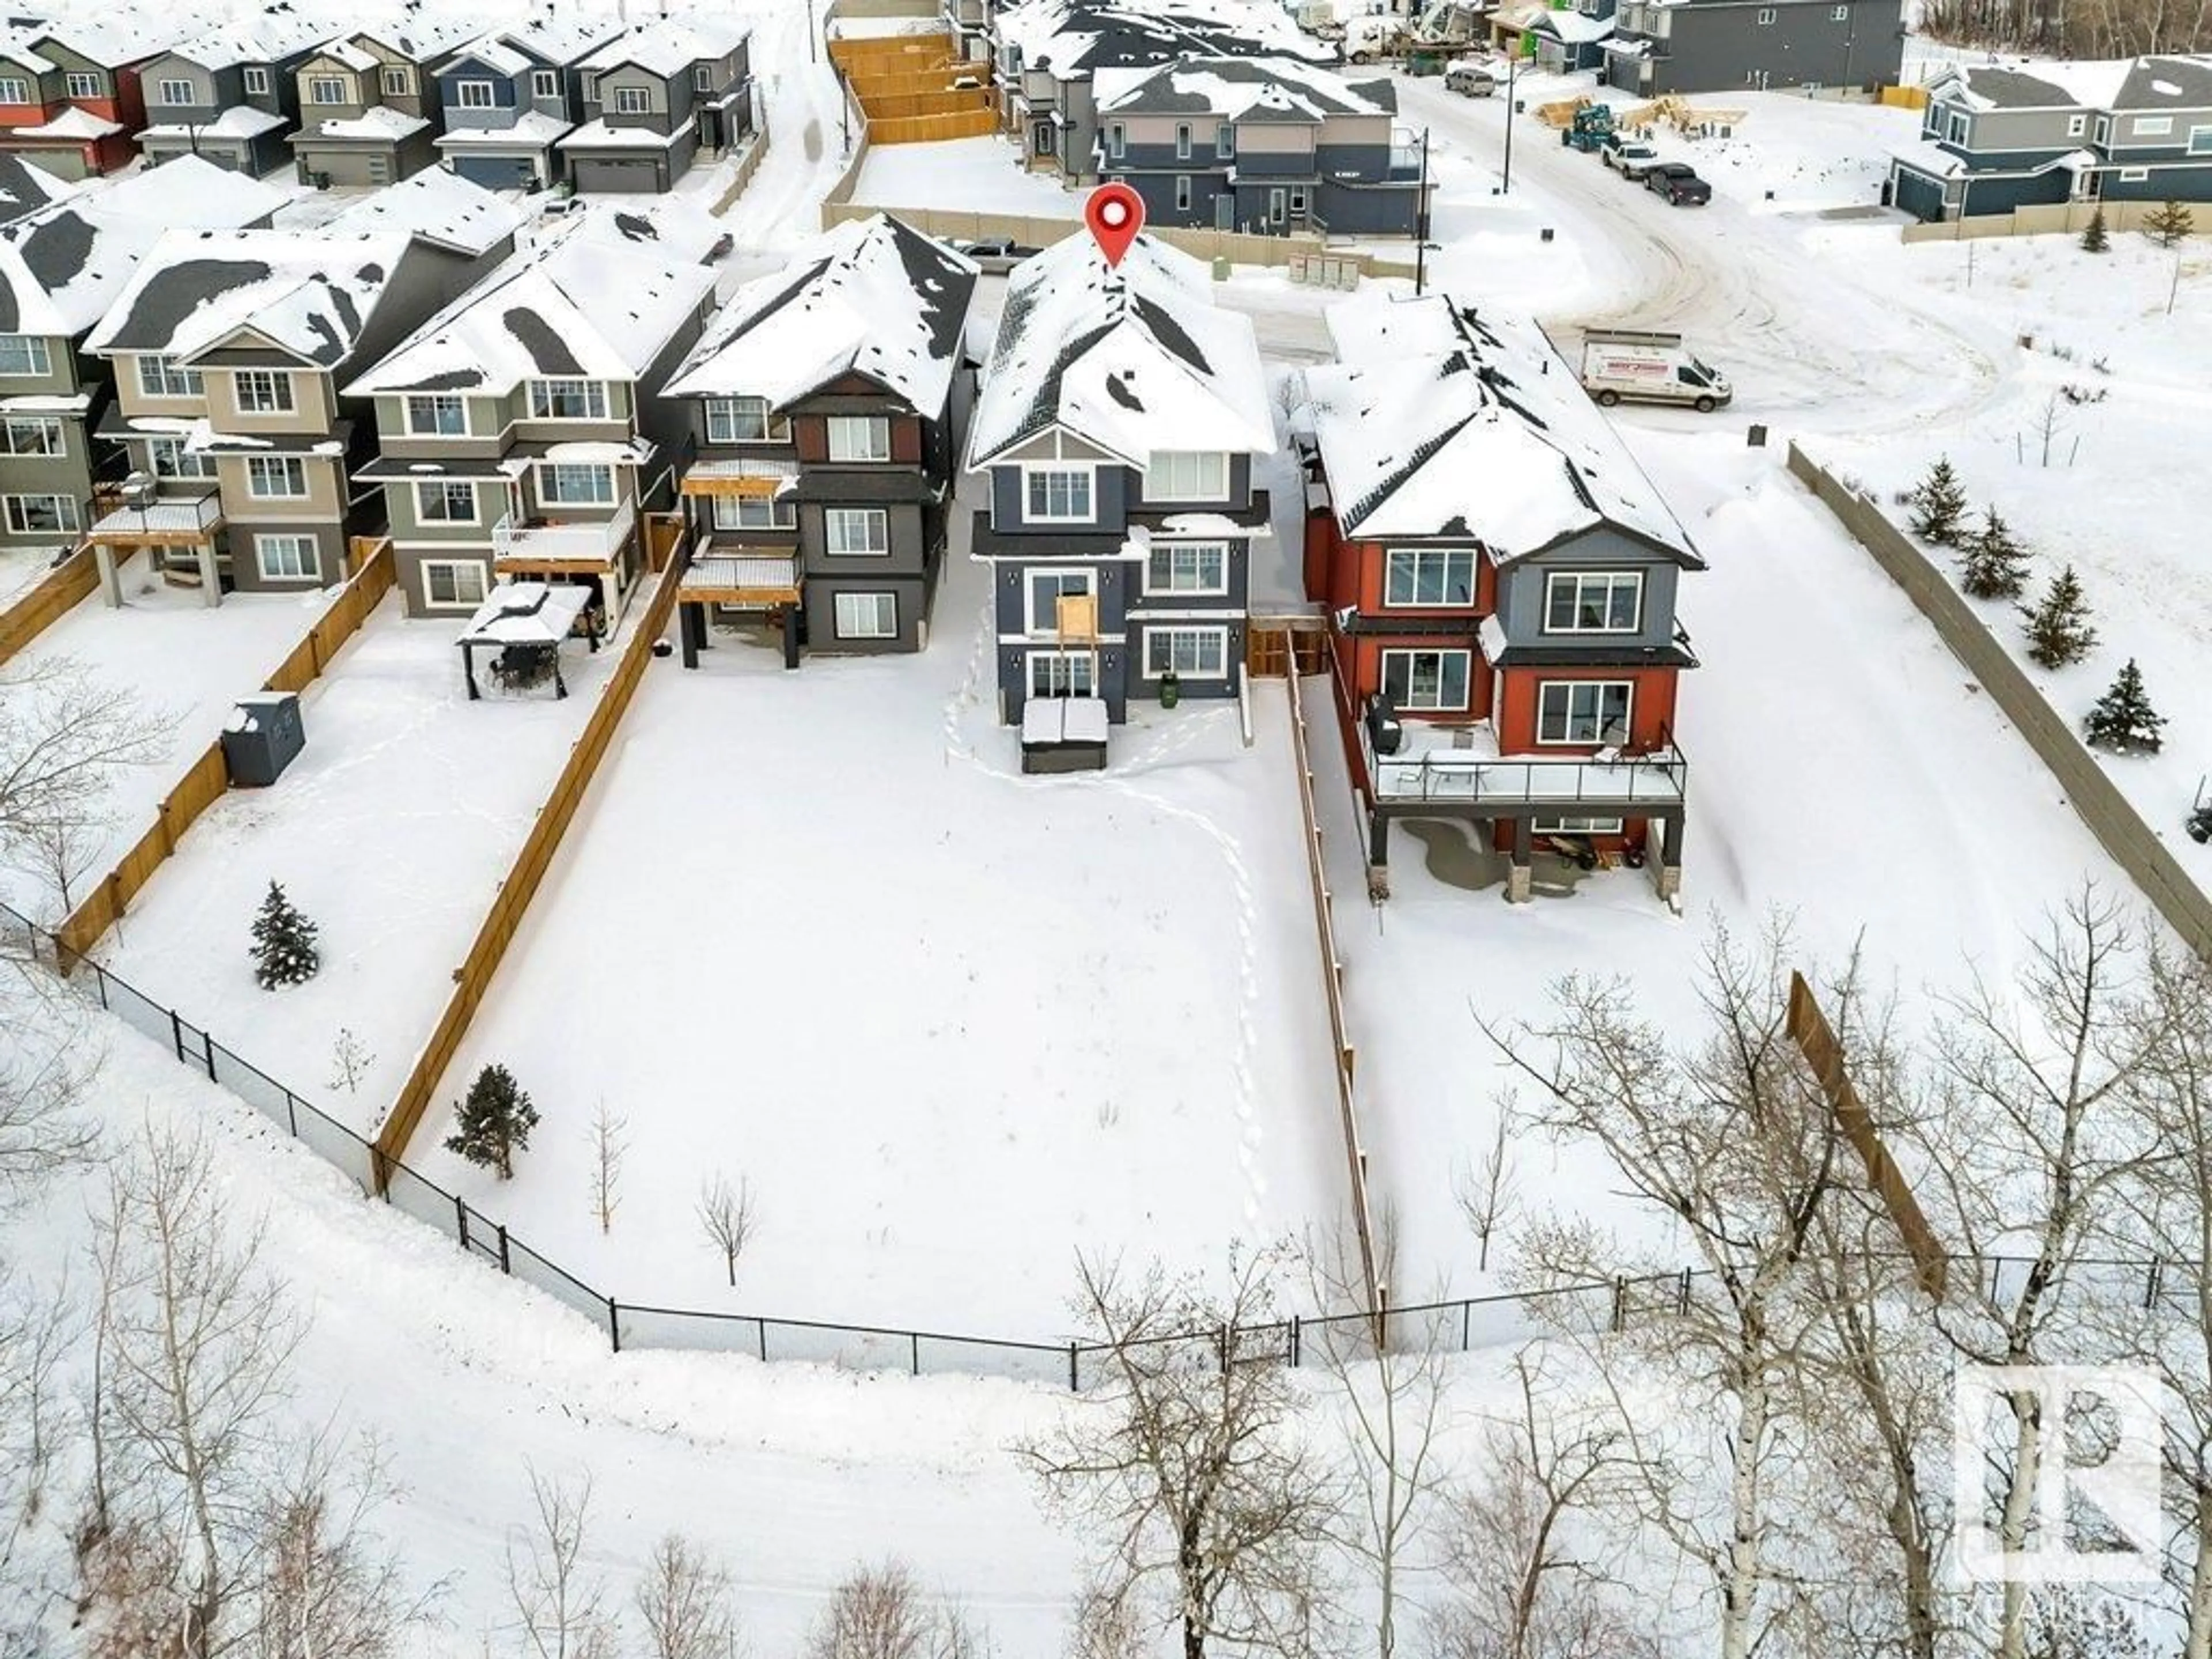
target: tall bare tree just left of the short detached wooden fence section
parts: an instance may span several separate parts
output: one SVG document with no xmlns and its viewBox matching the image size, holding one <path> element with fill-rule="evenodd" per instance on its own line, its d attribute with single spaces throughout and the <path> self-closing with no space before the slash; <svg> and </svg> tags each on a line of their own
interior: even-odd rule
<svg viewBox="0 0 2212 1659">
<path fill-rule="evenodd" d="M 1526 1234 L 1531 1287 L 1617 1281 L 1663 1283 L 1668 1314 L 1628 1314 L 1619 1336 L 1568 1327 L 1604 1376 L 1624 1367 L 1661 1376 L 1712 1407 L 1728 1427 L 1728 1482 L 1719 1506 L 1679 1478 L 1628 1411 L 1624 1442 L 1641 1475 L 1646 1520 L 1712 1582 L 1721 1659 L 1747 1659 L 1765 1632 L 1798 1610 L 1783 1571 L 1785 1515 L 1770 1486 L 1794 1444 L 1790 1378 L 1807 1336 L 1798 1290 L 1820 1206 L 1851 1175 L 1851 1150 L 1785 1033 L 1787 931 L 1752 953 L 1717 929 L 1705 949 L 1705 1033 L 1677 1051 L 1637 1018 L 1628 989 L 1568 975 L 1542 1029 L 1491 1040 L 1544 1091 L 1535 1119 L 1604 1146 L 1628 1190 L 1666 1214 L 1697 1272 L 1677 1279 L 1674 1248 L 1635 1250 L 1586 1221 L 1546 1221 Z M 1827 995 L 1838 1029 L 1856 1031 L 1847 973 Z"/>
</svg>

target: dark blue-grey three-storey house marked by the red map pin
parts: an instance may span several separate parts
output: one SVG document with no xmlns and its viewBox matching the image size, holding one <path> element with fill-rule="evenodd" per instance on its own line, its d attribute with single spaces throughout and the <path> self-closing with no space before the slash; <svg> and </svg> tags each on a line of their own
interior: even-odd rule
<svg viewBox="0 0 2212 1659">
<path fill-rule="evenodd" d="M 1139 237 L 1108 268 L 1066 237 L 1018 265 L 967 442 L 1000 717 L 1084 697 L 1121 721 L 1170 677 L 1234 697 L 1272 451 L 1252 323 L 1212 305 L 1203 263 Z"/>
</svg>

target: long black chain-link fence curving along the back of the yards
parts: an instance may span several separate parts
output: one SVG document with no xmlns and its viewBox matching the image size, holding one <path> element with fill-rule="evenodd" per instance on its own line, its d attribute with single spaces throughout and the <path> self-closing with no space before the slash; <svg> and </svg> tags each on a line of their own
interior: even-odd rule
<svg viewBox="0 0 2212 1659">
<path fill-rule="evenodd" d="M 18 911 L 0 905 L 0 949 L 18 949 L 31 962 L 60 975 L 64 951 L 53 933 Z M 257 1113 L 307 1146 L 325 1164 L 343 1170 L 363 1197 L 376 1194 L 376 1152 L 345 1124 L 307 1104 L 259 1066 L 239 1060 L 212 1035 L 195 1026 L 135 987 L 108 973 L 91 958 L 75 958 L 64 980 L 86 1002 L 97 1002 L 124 1024 L 168 1048 L 177 1062 L 208 1082 L 237 1095 Z M 509 1279 L 542 1290 L 553 1301 L 591 1321 L 619 1354 L 624 1349 L 699 1349 L 710 1354 L 745 1354 L 757 1360 L 810 1360 L 856 1371 L 907 1371 L 1004 1376 L 1082 1391 L 1099 1383 L 1113 1349 L 1104 1343 L 1009 1343 L 987 1336 L 951 1336 L 945 1332 L 891 1329 L 878 1325 L 832 1325 L 812 1318 L 761 1318 L 754 1314 L 714 1314 L 697 1307 L 648 1307 L 619 1303 L 582 1279 L 531 1250 L 500 1221 L 493 1221 L 467 1199 L 447 1192 L 436 1181 L 407 1168 L 387 1166 L 385 1203 L 427 1228 L 451 1237 L 465 1254 Z M 2017 1256 L 1991 1256 L 1973 1263 L 1978 1287 L 2002 1294 L 2017 1285 L 2031 1263 Z M 2075 1276 L 2088 1276 L 2090 1290 L 2119 1303 L 2146 1310 L 2181 1307 L 2194 1296 L 2194 1267 L 2159 1261 L 2090 1261 L 2075 1263 Z M 1511 1347 L 1559 1332 L 1619 1332 L 1655 1318 L 1686 1312 L 1705 1274 L 1681 1270 L 1644 1279 L 1613 1279 L 1588 1285 L 1559 1285 L 1524 1294 L 1467 1296 L 1447 1303 L 1391 1307 L 1383 1318 L 1383 1343 L 1391 1349 Z M 1354 1352 L 1376 1340 L 1369 1314 L 1292 1316 L 1254 1325 L 1237 1334 L 1239 1360 L 1303 1365 L 1314 1343 L 1347 1340 Z M 1225 1356 L 1223 1332 L 1188 1332 L 1159 1338 L 1168 1345 L 1192 1345 Z M 1312 1347 L 1318 1358 L 1325 1349 Z"/>
</svg>

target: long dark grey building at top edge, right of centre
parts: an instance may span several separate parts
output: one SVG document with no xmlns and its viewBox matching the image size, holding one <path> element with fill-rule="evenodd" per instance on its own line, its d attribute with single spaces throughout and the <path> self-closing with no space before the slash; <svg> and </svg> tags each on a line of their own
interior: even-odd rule
<svg viewBox="0 0 2212 1659">
<path fill-rule="evenodd" d="M 1900 0 L 1621 0 L 1601 44 L 1608 86 L 1725 93 L 1891 86 L 1905 64 Z"/>
</svg>

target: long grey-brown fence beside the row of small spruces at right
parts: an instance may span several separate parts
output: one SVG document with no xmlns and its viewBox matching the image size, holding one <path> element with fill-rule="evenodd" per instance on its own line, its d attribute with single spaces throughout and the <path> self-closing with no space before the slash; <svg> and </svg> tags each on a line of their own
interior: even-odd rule
<svg viewBox="0 0 2212 1659">
<path fill-rule="evenodd" d="M 2128 878 L 2141 889 L 2150 907 L 2199 956 L 2212 956 L 2212 898 L 2199 887 L 2181 860 L 2143 823 L 2143 814 L 2106 776 L 2097 759 L 2075 737 L 2057 710 L 2022 672 L 2011 653 L 1960 597 L 1958 588 L 1938 571 L 1929 557 L 1913 546 L 1865 495 L 1847 489 L 1834 473 L 1825 471 L 1794 442 L 1790 445 L 1790 471 L 1796 473 L 1843 522 L 1874 562 L 1889 573 L 1889 580 L 1905 588 L 1936 633 L 1951 648 L 1966 670 L 1991 695 L 2013 728 L 2028 741 L 2028 748 L 2051 768 L 2051 776 L 2066 794 L 2066 803 L 2079 814 L 2088 832 L 2110 854 Z"/>
</svg>

